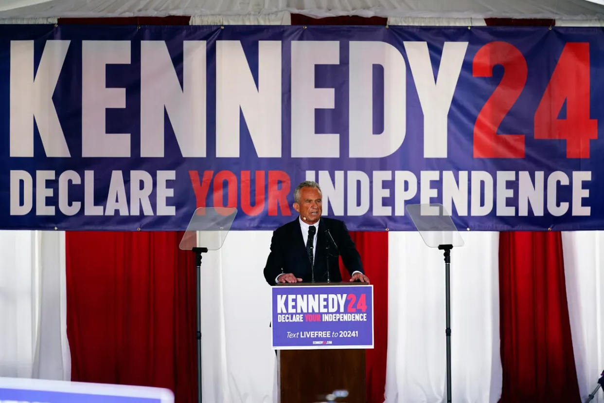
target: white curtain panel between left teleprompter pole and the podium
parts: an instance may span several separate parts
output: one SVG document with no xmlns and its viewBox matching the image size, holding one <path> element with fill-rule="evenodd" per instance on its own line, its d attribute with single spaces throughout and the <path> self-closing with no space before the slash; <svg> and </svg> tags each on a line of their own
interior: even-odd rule
<svg viewBox="0 0 604 403">
<path fill-rule="evenodd" d="M 262 270 L 272 231 L 231 231 L 202 262 L 202 395 L 207 403 L 276 399 L 271 287 Z"/>
</svg>

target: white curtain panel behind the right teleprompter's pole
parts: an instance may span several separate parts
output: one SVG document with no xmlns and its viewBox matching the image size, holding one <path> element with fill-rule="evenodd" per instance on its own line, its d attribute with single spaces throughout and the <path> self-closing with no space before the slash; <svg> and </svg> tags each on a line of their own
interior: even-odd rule
<svg viewBox="0 0 604 403">
<path fill-rule="evenodd" d="M 499 234 L 461 234 L 451 252 L 452 399 L 497 402 Z M 388 233 L 386 402 L 446 401 L 445 265 L 419 233 Z"/>
</svg>

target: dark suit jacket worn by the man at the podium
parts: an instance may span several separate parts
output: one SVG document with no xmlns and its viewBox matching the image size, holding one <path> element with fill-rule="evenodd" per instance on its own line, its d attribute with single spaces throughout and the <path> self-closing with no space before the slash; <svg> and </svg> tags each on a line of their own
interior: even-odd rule
<svg viewBox="0 0 604 403">
<path fill-rule="evenodd" d="M 338 245 L 337 249 L 329 239 L 326 228 L 329 228 L 329 233 L 332 234 L 333 240 Z M 355 271 L 365 274 L 361 256 L 356 251 L 355 243 L 350 238 L 344 222 L 321 217 L 316 239 L 315 282 L 327 281 L 328 262 L 330 280 L 332 282 L 342 281 L 338 265 L 338 250 L 342 256 L 342 262 L 350 274 Z M 275 285 L 275 277 L 281 273 L 293 273 L 303 282 L 312 281 L 312 268 L 306 253 L 306 242 L 302 237 L 299 218 L 282 225 L 272 234 L 271 253 L 266 260 L 264 269 L 266 282 L 269 285 Z"/>
</svg>

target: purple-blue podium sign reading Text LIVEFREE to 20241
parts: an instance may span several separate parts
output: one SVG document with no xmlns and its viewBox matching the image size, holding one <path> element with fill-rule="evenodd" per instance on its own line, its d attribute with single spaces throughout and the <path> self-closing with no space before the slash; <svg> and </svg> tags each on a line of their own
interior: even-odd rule
<svg viewBox="0 0 604 403">
<path fill-rule="evenodd" d="M 275 350 L 372 349 L 372 285 L 272 287 Z"/>
</svg>

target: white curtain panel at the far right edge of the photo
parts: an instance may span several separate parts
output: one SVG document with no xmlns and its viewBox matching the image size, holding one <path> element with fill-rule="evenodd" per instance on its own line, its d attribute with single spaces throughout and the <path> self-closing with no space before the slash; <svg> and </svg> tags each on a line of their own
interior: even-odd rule
<svg viewBox="0 0 604 403">
<path fill-rule="evenodd" d="M 604 370 L 604 232 L 563 232 L 562 249 L 574 362 L 585 401 Z M 604 393 L 593 402 L 604 402 Z"/>
</svg>

